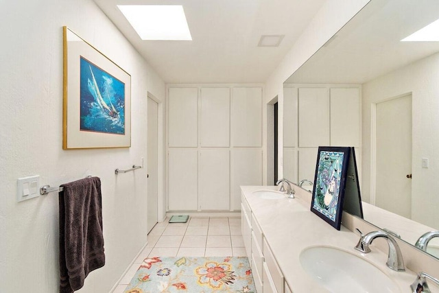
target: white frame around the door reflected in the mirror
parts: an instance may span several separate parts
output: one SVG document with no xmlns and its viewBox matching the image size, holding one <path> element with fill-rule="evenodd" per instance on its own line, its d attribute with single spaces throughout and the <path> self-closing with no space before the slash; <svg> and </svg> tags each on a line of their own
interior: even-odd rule
<svg viewBox="0 0 439 293">
<path fill-rule="evenodd" d="M 370 204 L 374 206 L 377 200 L 377 190 L 376 190 L 377 188 L 377 104 L 383 102 L 389 102 L 392 101 L 392 99 L 399 99 L 400 97 L 405 97 L 407 95 L 412 96 L 412 107 L 413 107 L 413 93 L 411 91 L 407 93 L 403 93 L 401 95 L 396 95 L 395 97 L 380 99 L 370 104 Z M 412 151 L 413 151 L 413 139 L 412 139 Z M 412 164 L 413 164 L 413 157 L 412 157 Z"/>
</svg>

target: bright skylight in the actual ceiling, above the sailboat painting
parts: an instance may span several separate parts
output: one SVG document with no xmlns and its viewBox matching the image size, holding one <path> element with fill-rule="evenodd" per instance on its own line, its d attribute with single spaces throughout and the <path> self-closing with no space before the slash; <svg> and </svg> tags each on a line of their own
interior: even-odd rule
<svg viewBox="0 0 439 293">
<path fill-rule="evenodd" d="M 117 5 L 142 40 L 192 40 L 182 5 Z"/>
</svg>

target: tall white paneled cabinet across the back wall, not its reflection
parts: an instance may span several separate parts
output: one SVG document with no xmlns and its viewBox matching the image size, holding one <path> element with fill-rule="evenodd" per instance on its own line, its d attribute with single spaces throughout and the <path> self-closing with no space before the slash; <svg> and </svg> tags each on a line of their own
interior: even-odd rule
<svg viewBox="0 0 439 293">
<path fill-rule="evenodd" d="M 239 211 L 262 185 L 262 87 L 169 86 L 169 211 Z"/>
</svg>

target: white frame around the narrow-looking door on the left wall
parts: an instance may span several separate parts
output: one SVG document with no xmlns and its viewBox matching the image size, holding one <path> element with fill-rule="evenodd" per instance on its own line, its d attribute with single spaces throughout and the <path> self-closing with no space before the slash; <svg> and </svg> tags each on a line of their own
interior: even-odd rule
<svg viewBox="0 0 439 293">
<path fill-rule="evenodd" d="M 163 222 L 166 218 L 166 202 L 165 202 L 165 152 L 164 152 L 164 145 L 165 142 L 163 139 L 165 139 L 165 135 L 163 132 L 164 129 L 164 119 L 165 119 L 165 106 L 163 105 L 163 99 L 160 99 L 150 93 L 147 92 L 147 98 L 152 99 L 154 102 L 157 103 L 158 106 L 158 113 L 157 113 L 157 119 L 158 119 L 158 129 L 157 129 L 157 154 L 158 154 L 158 166 L 157 166 L 157 184 L 158 184 L 158 204 L 157 204 L 157 220 L 158 222 Z M 147 104 L 147 103 L 146 103 Z"/>
</svg>

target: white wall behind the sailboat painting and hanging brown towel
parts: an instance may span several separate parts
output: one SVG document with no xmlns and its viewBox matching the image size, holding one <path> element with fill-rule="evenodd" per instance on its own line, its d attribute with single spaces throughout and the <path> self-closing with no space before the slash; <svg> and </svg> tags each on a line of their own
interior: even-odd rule
<svg viewBox="0 0 439 293">
<path fill-rule="evenodd" d="M 0 292 L 58 292 L 58 195 L 16 202 L 16 179 L 102 180 L 106 265 L 80 292 L 108 292 L 146 243 L 147 91 L 165 84 L 91 0 L 2 1 L 0 9 Z M 132 147 L 62 150 L 62 26 L 132 77 Z"/>
</svg>

